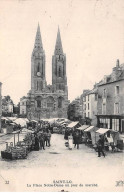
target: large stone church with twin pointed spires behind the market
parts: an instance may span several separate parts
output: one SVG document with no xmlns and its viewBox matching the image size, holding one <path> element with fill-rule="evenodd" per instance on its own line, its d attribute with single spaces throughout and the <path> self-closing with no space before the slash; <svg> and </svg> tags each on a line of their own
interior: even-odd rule
<svg viewBox="0 0 124 195">
<path fill-rule="evenodd" d="M 27 99 L 28 119 L 67 118 L 69 101 L 66 55 L 63 53 L 59 28 L 52 56 L 52 85 L 47 85 L 45 51 L 38 24 L 31 56 L 31 90 L 27 95 Z"/>
</svg>

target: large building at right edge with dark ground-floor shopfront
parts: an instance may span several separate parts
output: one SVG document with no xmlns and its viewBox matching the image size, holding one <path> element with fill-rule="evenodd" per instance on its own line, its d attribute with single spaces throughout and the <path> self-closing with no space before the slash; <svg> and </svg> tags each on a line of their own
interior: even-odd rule
<svg viewBox="0 0 124 195">
<path fill-rule="evenodd" d="M 98 84 L 97 126 L 124 132 L 124 64 Z"/>
</svg>

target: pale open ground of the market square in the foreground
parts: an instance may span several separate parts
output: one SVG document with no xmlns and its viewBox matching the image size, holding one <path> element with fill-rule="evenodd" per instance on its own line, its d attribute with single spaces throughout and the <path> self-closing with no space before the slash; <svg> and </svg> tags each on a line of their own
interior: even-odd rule
<svg viewBox="0 0 124 195">
<path fill-rule="evenodd" d="M 74 184 L 97 184 L 98 187 L 80 187 L 78 191 L 97 191 L 98 189 L 110 190 L 115 188 L 117 180 L 124 180 L 124 155 L 121 152 L 108 153 L 106 158 L 97 157 L 97 153 L 85 146 L 80 145 L 80 149 L 68 150 L 65 147 L 63 135 L 52 134 L 51 147 L 45 150 L 33 151 L 28 154 L 25 160 L 5 161 L 0 159 L 1 175 L 4 179 L 11 180 L 14 189 L 14 180 L 19 182 L 18 188 L 27 190 L 27 183 L 53 183 L 53 180 L 72 180 Z M 5 148 L 4 142 L 11 139 L 7 135 L 0 138 L 0 150 Z M 2 182 L 1 178 L 1 182 Z M 1 183 L 0 182 L 0 183 Z M 9 187 L 9 186 L 8 186 Z M 52 188 L 59 191 L 62 187 Z M 76 188 L 64 188 L 71 191 Z M 117 189 L 117 188 L 116 188 Z M 29 191 L 45 191 L 44 188 L 28 188 Z M 47 191 L 50 187 L 47 188 Z M 122 190 L 118 187 L 117 190 Z"/>
</svg>

